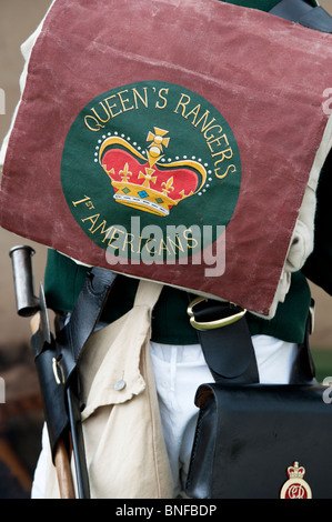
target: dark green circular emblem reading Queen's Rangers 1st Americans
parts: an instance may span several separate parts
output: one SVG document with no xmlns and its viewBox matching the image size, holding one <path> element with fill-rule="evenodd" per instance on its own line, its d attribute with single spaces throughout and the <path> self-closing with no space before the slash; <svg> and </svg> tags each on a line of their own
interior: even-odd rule
<svg viewBox="0 0 332 522">
<path fill-rule="evenodd" d="M 122 259 L 194 255 L 230 222 L 241 183 L 233 132 L 181 86 L 145 81 L 94 98 L 74 120 L 61 162 L 73 218 Z"/>
</svg>

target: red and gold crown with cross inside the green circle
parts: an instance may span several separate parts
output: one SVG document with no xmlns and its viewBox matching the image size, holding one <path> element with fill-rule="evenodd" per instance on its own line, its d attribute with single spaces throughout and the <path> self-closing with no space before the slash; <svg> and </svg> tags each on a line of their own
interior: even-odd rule
<svg viewBox="0 0 332 522">
<path fill-rule="evenodd" d="M 147 155 L 118 135 L 102 142 L 99 162 L 111 180 L 118 203 L 165 217 L 202 188 L 207 171 L 200 162 L 188 159 L 161 162 L 170 143 L 168 133 L 158 127 L 154 132 L 149 131 Z"/>
</svg>

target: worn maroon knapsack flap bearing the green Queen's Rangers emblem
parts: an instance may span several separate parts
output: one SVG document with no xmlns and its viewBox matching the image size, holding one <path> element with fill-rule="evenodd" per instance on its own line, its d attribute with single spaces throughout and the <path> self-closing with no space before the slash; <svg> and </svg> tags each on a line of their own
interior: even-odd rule
<svg viewBox="0 0 332 522">
<path fill-rule="evenodd" d="M 10 135 L 0 224 L 272 317 L 310 253 L 331 38 L 218 0 L 57 0 Z"/>
</svg>

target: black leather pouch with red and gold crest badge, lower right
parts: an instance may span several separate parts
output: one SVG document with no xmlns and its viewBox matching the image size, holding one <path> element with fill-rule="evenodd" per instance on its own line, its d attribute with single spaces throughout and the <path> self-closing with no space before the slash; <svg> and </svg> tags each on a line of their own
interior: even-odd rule
<svg viewBox="0 0 332 522">
<path fill-rule="evenodd" d="M 202 384 L 188 495 L 332 499 L 324 390 L 314 383 Z"/>
</svg>

